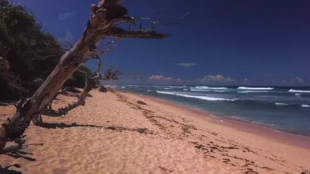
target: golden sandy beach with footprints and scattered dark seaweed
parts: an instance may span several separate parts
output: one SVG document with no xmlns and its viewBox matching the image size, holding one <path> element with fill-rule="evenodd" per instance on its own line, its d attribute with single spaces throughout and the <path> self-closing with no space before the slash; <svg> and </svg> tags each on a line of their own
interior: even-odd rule
<svg viewBox="0 0 310 174">
<path fill-rule="evenodd" d="M 310 173 L 309 137 L 137 94 L 90 94 L 65 117 L 31 125 L 30 146 L 0 155 L 0 173 Z M 53 108 L 73 101 L 60 95 Z M 0 106 L 0 123 L 14 113 Z"/>
</svg>

